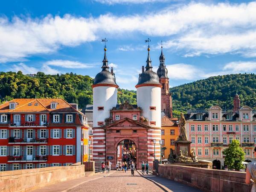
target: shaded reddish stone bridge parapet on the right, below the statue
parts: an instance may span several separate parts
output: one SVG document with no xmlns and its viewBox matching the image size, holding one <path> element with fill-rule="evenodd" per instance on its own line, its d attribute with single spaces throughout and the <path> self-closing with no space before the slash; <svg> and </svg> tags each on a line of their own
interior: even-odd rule
<svg viewBox="0 0 256 192">
<path fill-rule="evenodd" d="M 178 165 L 159 165 L 158 175 L 205 192 L 250 192 L 245 173 Z"/>
</svg>

